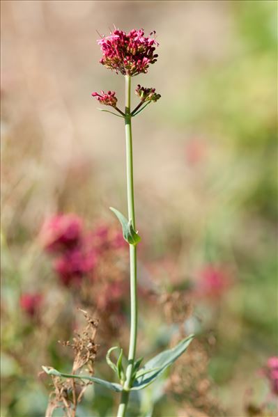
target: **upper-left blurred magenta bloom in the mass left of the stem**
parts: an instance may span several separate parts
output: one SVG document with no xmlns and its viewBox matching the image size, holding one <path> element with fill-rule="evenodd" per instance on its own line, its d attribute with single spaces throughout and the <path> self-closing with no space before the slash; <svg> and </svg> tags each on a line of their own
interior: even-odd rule
<svg viewBox="0 0 278 417">
<path fill-rule="evenodd" d="M 43 223 L 40 240 L 46 251 L 68 251 L 82 240 L 83 223 L 75 214 L 57 214 Z"/>
</svg>

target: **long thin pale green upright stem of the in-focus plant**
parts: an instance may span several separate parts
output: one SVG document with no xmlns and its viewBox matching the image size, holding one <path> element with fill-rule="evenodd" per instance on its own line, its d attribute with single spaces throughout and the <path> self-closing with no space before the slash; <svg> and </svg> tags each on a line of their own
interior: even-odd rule
<svg viewBox="0 0 278 417">
<path fill-rule="evenodd" d="M 126 164 L 128 184 L 128 219 L 131 219 L 135 229 L 134 189 L 133 189 L 133 160 L 132 160 L 132 129 L 130 114 L 130 84 L 131 77 L 125 75 L 125 141 Z M 121 404 L 118 407 L 117 417 L 125 417 L 128 407 L 130 388 L 132 386 L 132 371 L 136 354 L 137 342 L 137 251 L 136 246 L 130 244 L 130 347 L 128 351 L 128 368 L 121 396 Z"/>
</svg>

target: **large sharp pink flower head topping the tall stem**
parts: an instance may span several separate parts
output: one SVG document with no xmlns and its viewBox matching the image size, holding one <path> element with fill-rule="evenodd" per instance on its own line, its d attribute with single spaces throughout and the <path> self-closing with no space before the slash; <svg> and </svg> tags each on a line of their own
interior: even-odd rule
<svg viewBox="0 0 278 417">
<path fill-rule="evenodd" d="M 152 33 L 150 33 L 150 36 Z M 102 50 L 100 63 L 117 74 L 134 76 L 148 72 L 148 67 L 157 61 L 154 54 L 158 43 L 153 38 L 144 36 L 143 29 L 132 29 L 125 33 L 116 29 L 110 36 L 98 40 Z"/>
</svg>

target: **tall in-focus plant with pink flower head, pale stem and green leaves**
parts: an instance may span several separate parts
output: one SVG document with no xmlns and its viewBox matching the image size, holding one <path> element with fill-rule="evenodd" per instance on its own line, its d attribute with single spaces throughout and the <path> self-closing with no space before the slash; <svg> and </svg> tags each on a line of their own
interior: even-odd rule
<svg viewBox="0 0 278 417">
<path fill-rule="evenodd" d="M 127 195 L 128 195 L 128 218 L 114 207 L 110 207 L 111 211 L 116 214 L 116 217 L 121 223 L 123 228 L 123 237 L 129 244 L 130 248 L 130 345 L 128 351 L 128 365 L 126 368 L 123 366 L 123 349 L 120 349 L 118 360 L 116 363 L 111 361 L 111 352 L 116 351 L 118 347 L 111 347 L 107 352 L 107 363 L 116 373 L 119 382 L 114 383 L 99 379 L 97 377 L 86 375 L 68 375 L 61 373 L 52 368 L 44 367 L 45 372 L 49 375 L 56 375 L 57 377 L 66 378 L 78 378 L 93 381 L 96 384 L 101 384 L 111 391 L 121 393 L 121 402 L 118 407 L 118 417 L 124 417 L 130 398 L 131 391 L 137 391 L 150 385 L 159 377 L 164 370 L 178 359 L 178 357 L 185 352 L 193 336 L 189 336 L 180 340 L 176 347 L 168 349 L 157 356 L 150 359 L 141 367 L 143 358 L 136 358 L 137 347 L 137 323 L 138 323 L 138 307 L 137 307 L 137 244 L 139 244 L 141 237 L 137 232 L 135 223 L 135 208 L 134 208 L 134 186 L 133 186 L 133 157 L 132 157 L 132 118 L 137 116 L 142 110 L 150 104 L 150 102 L 157 102 L 160 99 L 160 94 L 155 93 L 155 88 L 145 88 L 140 85 L 137 86 L 135 93 L 139 96 L 140 102 L 133 110 L 130 105 L 130 91 L 131 91 L 131 79 L 140 73 L 148 72 L 150 64 L 157 61 L 157 54 L 155 49 L 158 46 L 155 38 L 151 36 L 155 32 L 150 34 L 150 37 L 144 36 L 142 29 L 133 29 L 130 33 L 125 33 L 115 29 L 109 36 L 103 36 L 98 40 L 98 44 L 102 50 L 102 58 L 100 63 L 105 65 L 106 68 L 113 70 L 116 74 L 121 73 L 125 76 L 125 111 L 122 111 L 117 107 L 117 97 L 114 91 L 108 91 L 105 93 L 92 93 L 100 104 L 112 107 L 114 111 L 108 111 L 109 113 L 119 116 L 124 119 L 125 122 L 125 141 L 126 141 L 126 164 L 127 164 Z M 107 111 L 107 110 L 104 110 Z M 79 235 L 78 223 L 72 230 L 68 230 L 65 225 L 65 231 L 59 237 L 58 242 L 62 245 L 68 245 L 72 243 L 72 239 L 78 239 Z M 49 242 L 49 249 L 52 248 L 52 242 Z M 71 253 L 72 256 L 72 253 Z M 75 260 L 79 265 L 79 258 L 76 255 Z M 72 260 L 67 259 L 64 263 L 58 262 L 56 269 L 66 276 L 67 265 Z M 90 267 L 90 265 L 89 265 Z M 83 272 L 83 271 L 82 271 Z M 141 367 L 141 368 L 140 368 Z"/>
</svg>

